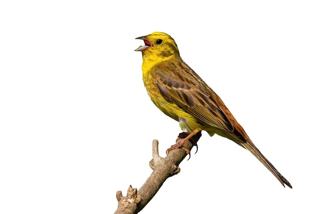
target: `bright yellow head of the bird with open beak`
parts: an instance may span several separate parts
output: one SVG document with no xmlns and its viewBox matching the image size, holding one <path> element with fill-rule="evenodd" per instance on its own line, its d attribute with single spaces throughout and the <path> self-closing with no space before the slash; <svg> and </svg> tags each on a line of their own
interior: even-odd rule
<svg viewBox="0 0 321 214">
<path fill-rule="evenodd" d="M 137 37 L 136 39 L 144 40 L 145 43 L 144 46 L 139 46 L 139 48 L 135 50 L 142 51 L 143 53 L 143 68 L 144 64 L 148 64 L 148 67 L 151 68 L 157 63 L 179 57 L 179 51 L 175 41 L 166 33 L 153 32 L 152 34 Z"/>
</svg>

